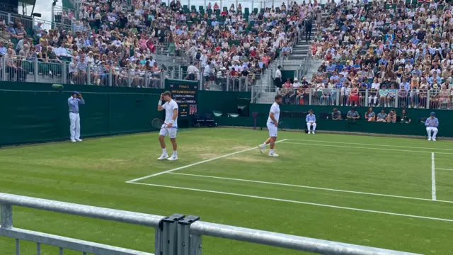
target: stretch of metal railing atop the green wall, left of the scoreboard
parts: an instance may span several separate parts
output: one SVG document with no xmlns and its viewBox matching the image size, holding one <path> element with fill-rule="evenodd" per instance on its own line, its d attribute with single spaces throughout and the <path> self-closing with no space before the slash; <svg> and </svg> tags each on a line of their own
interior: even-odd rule
<svg viewBox="0 0 453 255">
<path fill-rule="evenodd" d="M 163 89 L 164 81 L 168 78 L 161 69 L 152 72 L 146 71 L 142 67 L 113 67 L 42 60 L 37 57 L 23 57 L 23 60 L 11 61 L 6 60 L 7 58 L 6 55 L 0 58 L 0 81 Z"/>
</svg>

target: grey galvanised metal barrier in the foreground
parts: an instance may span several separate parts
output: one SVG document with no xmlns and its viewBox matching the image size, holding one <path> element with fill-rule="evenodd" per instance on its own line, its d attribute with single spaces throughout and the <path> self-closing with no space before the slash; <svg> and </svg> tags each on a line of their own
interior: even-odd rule
<svg viewBox="0 0 453 255">
<path fill-rule="evenodd" d="M 52 212 L 62 212 L 82 217 L 113 220 L 155 229 L 154 252 L 159 255 L 201 255 L 202 236 L 221 237 L 255 244 L 308 251 L 317 254 L 344 255 L 411 255 L 402 251 L 377 249 L 354 244 L 344 244 L 321 239 L 297 237 L 289 234 L 233 227 L 228 225 L 201 222 L 200 217 L 171 215 L 164 217 L 138 212 L 127 212 L 88 205 L 64 203 L 54 200 L 30 198 L 0 193 L 1 225 L 0 236 L 16 239 L 16 255 L 20 254 L 20 240 L 35 242 L 37 254 L 41 253 L 41 244 L 59 247 L 59 254 L 64 249 L 81 251 L 96 255 L 152 255 L 144 251 L 134 251 L 105 244 L 97 244 L 79 239 L 61 237 L 54 234 L 30 231 L 13 227 L 13 205 Z M 1 247 L 0 247 L 1 249 Z M 414 254 L 412 254 L 414 255 Z"/>
</svg>

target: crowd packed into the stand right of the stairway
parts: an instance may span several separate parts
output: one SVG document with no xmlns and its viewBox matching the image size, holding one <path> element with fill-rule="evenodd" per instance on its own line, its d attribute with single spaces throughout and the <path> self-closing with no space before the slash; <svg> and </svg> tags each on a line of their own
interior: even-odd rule
<svg viewBox="0 0 453 255">
<path fill-rule="evenodd" d="M 310 84 L 286 91 L 290 103 L 311 89 L 312 103 L 451 108 L 449 1 L 331 1 L 327 9 L 311 43 L 323 62 Z"/>
</svg>

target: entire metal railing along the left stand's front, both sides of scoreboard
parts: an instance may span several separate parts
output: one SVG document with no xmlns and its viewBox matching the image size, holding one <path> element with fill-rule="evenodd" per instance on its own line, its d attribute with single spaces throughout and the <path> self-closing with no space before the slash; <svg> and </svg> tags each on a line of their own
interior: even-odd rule
<svg viewBox="0 0 453 255">
<path fill-rule="evenodd" d="M 212 69 L 209 75 L 205 75 L 204 69 L 190 74 L 183 71 L 180 65 L 169 66 L 166 71 L 148 71 L 144 67 L 67 62 L 63 59 L 67 60 L 69 57 L 60 58 L 62 60 L 42 60 L 38 57 L 13 58 L 4 55 L 0 58 L 0 81 L 164 88 L 164 81 L 169 78 L 199 81 L 201 90 L 250 91 L 251 86 L 268 79 L 262 70 L 243 76 L 241 73 L 231 75 L 227 70 L 219 73 L 218 69 Z"/>
</svg>

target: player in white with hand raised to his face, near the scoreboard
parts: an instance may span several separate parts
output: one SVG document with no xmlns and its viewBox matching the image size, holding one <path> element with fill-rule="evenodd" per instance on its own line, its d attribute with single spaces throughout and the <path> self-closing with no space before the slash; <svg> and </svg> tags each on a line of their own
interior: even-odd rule
<svg viewBox="0 0 453 255">
<path fill-rule="evenodd" d="M 162 105 L 162 101 L 165 101 Z M 157 111 L 165 110 L 165 123 L 162 124 L 161 131 L 159 132 L 159 142 L 161 143 L 162 155 L 159 160 L 176 160 L 178 159 L 178 145 L 176 145 L 176 131 L 178 131 L 178 103 L 171 98 L 170 91 L 165 91 L 161 95 Z M 164 138 L 168 135 L 170 137 L 171 144 L 173 145 L 173 154 L 168 157 L 167 150 L 165 147 Z"/>
</svg>

